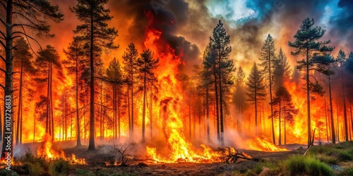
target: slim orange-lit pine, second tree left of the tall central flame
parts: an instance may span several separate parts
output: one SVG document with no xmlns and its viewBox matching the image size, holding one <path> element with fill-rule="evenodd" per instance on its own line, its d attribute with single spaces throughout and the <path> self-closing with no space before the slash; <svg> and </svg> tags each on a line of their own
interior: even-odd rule
<svg viewBox="0 0 353 176">
<path fill-rule="evenodd" d="M 131 102 L 128 102 L 131 104 L 131 118 L 129 117 L 129 123 L 128 123 L 128 129 L 129 129 L 129 135 L 130 139 L 133 139 L 133 84 L 136 82 L 136 76 L 138 73 L 138 67 L 137 67 L 137 59 L 138 59 L 138 51 L 135 47 L 135 44 L 131 43 L 128 44 L 128 48 L 126 51 L 124 51 L 124 71 L 127 74 L 127 80 L 128 80 L 128 87 L 130 88 L 131 91 Z M 130 107 L 128 107 L 130 110 Z M 129 111 L 130 112 L 130 111 Z"/>
</svg>

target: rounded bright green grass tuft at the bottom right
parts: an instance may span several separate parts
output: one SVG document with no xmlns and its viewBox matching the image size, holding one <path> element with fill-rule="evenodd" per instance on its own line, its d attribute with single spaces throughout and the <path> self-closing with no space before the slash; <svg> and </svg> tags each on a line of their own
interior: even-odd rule
<svg viewBox="0 0 353 176">
<path fill-rule="evenodd" d="M 292 156 L 287 160 L 289 175 L 333 175 L 333 170 L 316 158 Z"/>
</svg>

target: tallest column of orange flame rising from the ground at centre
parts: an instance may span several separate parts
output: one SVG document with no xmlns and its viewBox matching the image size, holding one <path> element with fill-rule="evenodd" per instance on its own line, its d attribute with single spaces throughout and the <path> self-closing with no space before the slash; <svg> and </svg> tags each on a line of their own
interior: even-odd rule
<svg viewBox="0 0 353 176">
<path fill-rule="evenodd" d="M 201 145 L 203 151 L 197 153 L 192 149 L 191 142 L 187 142 L 184 137 L 184 124 L 180 115 L 183 114 L 181 102 L 183 94 L 181 83 L 177 80 L 178 66 L 183 64 L 182 54 L 174 54 L 174 49 L 161 39 L 162 31 L 152 29 L 150 25 L 154 23 L 152 14 L 146 14 L 150 19 L 148 29 L 146 30 L 145 46 L 154 51 L 155 56 L 160 58 L 160 67 L 156 70 L 160 84 L 160 99 L 163 116 L 163 132 L 167 139 L 170 155 L 162 157 L 157 154 L 155 148 L 146 146 L 148 156 L 156 162 L 174 163 L 184 162 L 205 162 L 215 161 L 219 156 L 216 152 L 205 145 Z"/>
</svg>

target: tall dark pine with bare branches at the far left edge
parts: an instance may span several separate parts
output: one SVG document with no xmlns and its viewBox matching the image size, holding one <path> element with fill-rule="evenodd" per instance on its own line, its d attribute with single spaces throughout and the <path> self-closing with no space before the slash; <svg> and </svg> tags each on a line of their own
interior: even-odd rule
<svg viewBox="0 0 353 176">
<path fill-rule="evenodd" d="M 10 137 L 8 142 L 5 137 L 5 132 L 13 132 L 13 120 L 12 113 L 10 114 L 9 122 L 11 125 L 6 125 L 6 110 L 13 112 L 13 39 L 21 36 L 25 36 L 26 39 L 32 39 L 37 42 L 34 35 L 39 37 L 54 37 L 49 33 L 50 26 L 47 24 L 47 19 L 52 19 L 59 23 L 63 20 L 63 16 L 59 13 L 58 6 L 52 6 L 48 0 L 42 0 L 40 3 L 37 1 L 16 1 L 7 0 L 1 1 L 1 8 L 4 10 L 4 15 L 1 15 L 0 22 L 1 29 L 6 29 L 6 32 L 0 30 L 0 44 L 5 49 L 5 57 L 0 56 L 1 61 L 5 63 L 5 70 L 1 70 L 5 73 L 5 85 L 1 84 L 4 89 L 4 96 L 8 99 L 8 106 L 4 103 L 4 131 L 3 131 L 3 147 L 1 151 L 1 159 L 6 157 L 6 153 L 13 151 L 13 136 Z M 32 32 L 28 32 L 31 30 Z M 6 108 L 8 107 L 8 108 Z M 6 147 L 8 143 L 11 143 L 10 147 Z"/>
</svg>

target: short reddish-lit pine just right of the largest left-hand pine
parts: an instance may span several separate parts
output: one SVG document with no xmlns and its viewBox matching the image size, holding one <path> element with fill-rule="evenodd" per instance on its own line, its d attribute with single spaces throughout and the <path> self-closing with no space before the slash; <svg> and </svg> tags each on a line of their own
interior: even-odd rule
<svg viewBox="0 0 353 176">
<path fill-rule="evenodd" d="M 119 61 L 116 58 L 113 59 L 112 62 L 109 63 L 107 68 L 107 78 L 113 87 L 113 118 L 114 118 L 114 138 L 119 139 L 121 137 L 121 129 L 120 129 L 120 92 L 121 92 L 121 84 L 123 82 L 121 66 Z M 116 118 L 117 116 L 117 118 Z"/>
</svg>

